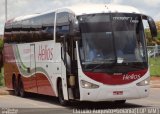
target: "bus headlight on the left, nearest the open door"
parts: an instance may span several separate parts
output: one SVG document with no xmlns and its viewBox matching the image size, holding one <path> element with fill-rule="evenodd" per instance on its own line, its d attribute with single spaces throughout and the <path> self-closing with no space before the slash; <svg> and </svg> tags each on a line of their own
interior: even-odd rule
<svg viewBox="0 0 160 114">
<path fill-rule="evenodd" d="M 99 85 L 81 80 L 81 87 L 87 88 L 87 89 L 94 89 L 94 88 L 99 88 Z"/>
</svg>

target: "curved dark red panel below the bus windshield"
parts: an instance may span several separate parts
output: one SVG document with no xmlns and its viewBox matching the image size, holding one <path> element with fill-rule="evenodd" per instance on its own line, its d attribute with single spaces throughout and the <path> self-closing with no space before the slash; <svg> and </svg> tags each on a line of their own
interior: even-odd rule
<svg viewBox="0 0 160 114">
<path fill-rule="evenodd" d="M 127 74 L 107 74 L 107 73 L 96 73 L 96 72 L 84 72 L 86 76 L 89 78 L 101 82 L 103 84 L 108 85 L 122 85 L 122 84 L 128 84 L 131 83 L 141 77 L 143 77 L 147 72 L 147 69 L 140 70 L 140 71 L 134 71 L 129 72 Z"/>
</svg>

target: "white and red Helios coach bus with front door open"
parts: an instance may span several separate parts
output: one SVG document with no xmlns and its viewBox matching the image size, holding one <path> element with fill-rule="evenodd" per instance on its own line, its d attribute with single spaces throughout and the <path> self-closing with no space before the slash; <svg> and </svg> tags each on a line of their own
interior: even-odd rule
<svg viewBox="0 0 160 114">
<path fill-rule="evenodd" d="M 154 20 L 131 6 L 80 4 L 5 23 L 4 79 L 26 92 L 70 101 L 125 103 L 149 95 L 144 31 Z"/>
</svg>

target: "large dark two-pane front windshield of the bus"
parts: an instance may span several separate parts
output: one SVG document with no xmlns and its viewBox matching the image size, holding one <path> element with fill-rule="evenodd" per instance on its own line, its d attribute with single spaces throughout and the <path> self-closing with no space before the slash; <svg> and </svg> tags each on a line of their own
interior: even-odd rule
<svg viewBox="0 0 160 114">
<path fill-rule="evenodd" d="M 91 14 L 78 17 L 81 31 L 79 52 L 86 69 L 105 66 L 147 67 L 141 15 Z M 98 66 L 97 66 L 98 65 Z"/>
</svg>

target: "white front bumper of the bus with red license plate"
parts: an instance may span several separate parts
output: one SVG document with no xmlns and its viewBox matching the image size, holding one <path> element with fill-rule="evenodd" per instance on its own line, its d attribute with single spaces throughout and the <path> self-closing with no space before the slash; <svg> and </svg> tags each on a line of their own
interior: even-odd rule
<svg viewBox="0 0 160 114">
<path fill-rule="evenodd" d="M 149 95 L 150 86 L 106 86 L 101 85 L 97 89 L 81 88 L 81 101 L 115 101 L 115 100 L 129 100 L 147 97 Z"/>
</svg>

